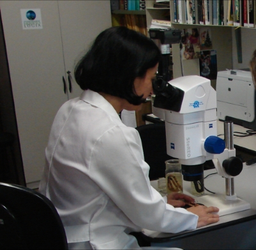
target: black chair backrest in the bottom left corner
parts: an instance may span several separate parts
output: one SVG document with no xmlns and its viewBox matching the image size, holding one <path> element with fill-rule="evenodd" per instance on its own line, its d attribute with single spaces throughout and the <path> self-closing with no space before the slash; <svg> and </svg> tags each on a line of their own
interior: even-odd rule
<svg viewBox="0 0 256 250">
<path fill-rule="evenodd" d="M 52 202 L 28 187 L 0 182 L 0 249 L 68 249 Z"/>
</svg>

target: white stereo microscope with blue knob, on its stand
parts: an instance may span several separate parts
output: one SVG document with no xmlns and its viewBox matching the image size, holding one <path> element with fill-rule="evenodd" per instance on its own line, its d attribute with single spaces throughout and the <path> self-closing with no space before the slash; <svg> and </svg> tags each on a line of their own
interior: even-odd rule
<svg viewBox="0 0 256 250">
<path fill-rule="evenodd" d="M 179 77 L 154 82 L 154 107 L 164 110 L 167 154 L 182 164 L 184 180 L 200 180 L 205 161 L 212 159 L 218 174 L 225 177 L 226 195 L 204 195 L 196 202 L 220 209 L 220 216 L 250 209 L 234 193 L 234 176 L 243 170 L 232 145 L 232 123 L 225 123 L 225 141 L 217 136 L 216 91 L 207 78 Z"/>
</svg>

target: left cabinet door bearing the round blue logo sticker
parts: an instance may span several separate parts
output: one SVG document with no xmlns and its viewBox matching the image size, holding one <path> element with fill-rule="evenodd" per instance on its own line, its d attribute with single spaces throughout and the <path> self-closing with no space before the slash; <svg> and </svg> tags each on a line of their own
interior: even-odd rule
<svg viewBox="0 0 256 250">
<path fill-rule="evenodd" d="M 26 182 L 41 179 L 56 112 L 67 101 L 57 1 L 0 1 Z M 22 29 L 20 9 L 40 9 L 43 29 Z"/>
</svg>

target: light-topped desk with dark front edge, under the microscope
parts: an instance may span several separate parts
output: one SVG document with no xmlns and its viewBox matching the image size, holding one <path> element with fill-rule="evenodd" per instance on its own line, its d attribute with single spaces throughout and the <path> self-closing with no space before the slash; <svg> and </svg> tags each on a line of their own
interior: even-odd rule
<svg viewBox="0 0 256 250">
<path fill-rule="evenodd" d="M 255 138 L 256 139 L 256 138 Z M 205 170 L 205 177 L 215 169 Z M 193 231 L 177 234 L 144 230 L 145 237 L 152 246 L 180 247 L 182 249 L 255 249 L 256 248 L 256 164 L 246 166 L 234 178 L 238 198 L 251 204 L 250 210 L 221 216 L 214 223 Z M 184 193 L 188 193 L 190 183 L 184 182 Z M 225 194 L 225 179 L 210 175 L 205 179 L 205 187 L 215 193 Z M 208 193 L 205 191 L 205 193 Z M 214 204 L 212 204 L 214 205 Z"/>
</svg>

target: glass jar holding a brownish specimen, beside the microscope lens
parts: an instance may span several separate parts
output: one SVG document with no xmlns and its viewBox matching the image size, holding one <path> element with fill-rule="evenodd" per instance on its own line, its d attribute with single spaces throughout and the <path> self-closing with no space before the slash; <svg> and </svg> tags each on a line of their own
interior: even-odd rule
<svg viewBox="0 0 256 250">
<path fill-rule="evenodd" d="M 183 183 L 179 159 L 169 159 L 168 161 L 165 161 L 165 166 L 166 193 L 182 193 Z"/>
</svg>

